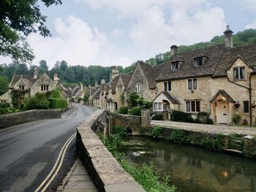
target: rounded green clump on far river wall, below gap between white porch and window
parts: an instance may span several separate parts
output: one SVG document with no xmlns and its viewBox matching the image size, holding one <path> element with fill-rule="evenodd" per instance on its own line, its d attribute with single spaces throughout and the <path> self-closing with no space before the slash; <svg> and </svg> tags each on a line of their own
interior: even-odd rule
<svg viewBox="0 0 256 192">
<path fill-rule="evenodd" d="M 177 143 L 178 145 L 188 144 L 191 140 L 187 136 L 186 131 L 182 129 L 173 129 L 173 131 L 170 133 L 169 139 L 171 142 Z"/>
</svg>

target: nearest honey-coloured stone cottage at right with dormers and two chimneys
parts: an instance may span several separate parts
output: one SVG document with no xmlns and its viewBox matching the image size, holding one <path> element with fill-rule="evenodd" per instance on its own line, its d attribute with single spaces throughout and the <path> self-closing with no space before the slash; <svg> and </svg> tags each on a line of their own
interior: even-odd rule
<svg viewBox="0 0 256 192">
<path fill-rule="evenodd" d="M 255 124 L 256 44 L 233 47 L 227 26 L 225 45 L 178 53 L 157 66 L 154 111 L 181 110 L 194 115 L 208 112 L 214 123 L 231 123 L 240 115 Z"/>
</svg>

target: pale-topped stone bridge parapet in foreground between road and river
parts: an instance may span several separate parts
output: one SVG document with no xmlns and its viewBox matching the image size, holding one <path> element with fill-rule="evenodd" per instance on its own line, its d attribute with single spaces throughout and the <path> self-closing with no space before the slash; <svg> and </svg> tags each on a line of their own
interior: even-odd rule
<svg viewBox="0 0 256 192">
<path fill-rule="evenodd" d="M 94 131 L 108 125 L 106 112 L 97 110 L 77 128 L 77 152 L 99 191 L 139 192 L 143 188 L 118 164 Z M 94 130 L 94 131 L 93 131 Z"/>
</svg>

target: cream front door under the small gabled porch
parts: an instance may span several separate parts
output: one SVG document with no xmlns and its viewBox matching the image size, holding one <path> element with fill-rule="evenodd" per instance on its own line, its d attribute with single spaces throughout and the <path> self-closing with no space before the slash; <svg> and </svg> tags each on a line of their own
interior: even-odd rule
<svg viewBox="0 0 256 192">
<path fill-rule="evenodd" d="M 217 123 L 228 124 L 230 123 L 230 104 L 219 101 L 216 106 L 216 120 Z"/>
</svg>

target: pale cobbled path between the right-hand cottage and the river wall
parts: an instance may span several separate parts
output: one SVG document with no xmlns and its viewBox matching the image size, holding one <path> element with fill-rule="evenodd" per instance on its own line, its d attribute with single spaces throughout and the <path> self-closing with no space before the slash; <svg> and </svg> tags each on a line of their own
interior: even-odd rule
<svg viewBox="0 0 256 192">
<path fill-rule="evenodd" d="M 151 120 L 152 126 L 180 128 L 211 134 L 244 134 L 256 137 L 256 128 L 252 126 L 206 125 L 198 123 L 182 123 L 170 120 Z"/>
</svg>

